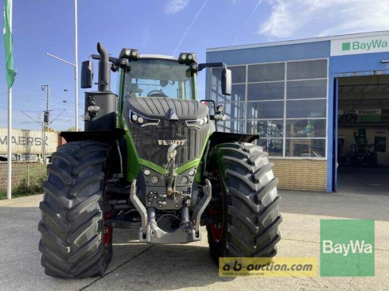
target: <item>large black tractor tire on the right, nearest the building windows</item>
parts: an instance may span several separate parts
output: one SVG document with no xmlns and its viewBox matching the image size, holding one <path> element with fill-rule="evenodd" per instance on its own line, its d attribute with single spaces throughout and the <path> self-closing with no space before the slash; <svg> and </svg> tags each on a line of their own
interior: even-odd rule
<svg viewBox="0 0 389 291">
<path fill-rule="evenodd" d="M 223 221 L 207 226 L 212 259 L 274 257 L 282 216 L 273 163 L 253 144 L 222 144 L 216 151 L 222 193 L 212 191 L 212 196 L 222 197 Z"/>
</svg>

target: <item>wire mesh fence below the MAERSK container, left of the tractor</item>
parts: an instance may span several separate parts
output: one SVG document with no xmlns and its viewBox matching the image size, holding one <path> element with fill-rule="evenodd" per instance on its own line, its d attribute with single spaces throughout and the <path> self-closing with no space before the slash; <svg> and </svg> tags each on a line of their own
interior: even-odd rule
<svg viewBox="0 0 389 291">
<path fill-rule="evenodd" d="M 12 188 L 40 187 L 46 178 L 46 164 L 38 162 L 12 162 Z M 7 162 L 0 162 L 0 191 L 7 190 Z"/>
</svg>

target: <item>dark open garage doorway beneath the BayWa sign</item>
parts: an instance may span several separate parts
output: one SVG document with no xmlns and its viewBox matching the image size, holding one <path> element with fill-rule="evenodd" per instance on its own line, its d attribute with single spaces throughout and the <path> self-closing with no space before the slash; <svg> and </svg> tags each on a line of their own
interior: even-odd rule
<svg viewBox="0 0 389 291">
<path fill-rule="evenodd" d="M 388 194 L 389 75 L 338 79 L 337 191 Z"/>
</svg>

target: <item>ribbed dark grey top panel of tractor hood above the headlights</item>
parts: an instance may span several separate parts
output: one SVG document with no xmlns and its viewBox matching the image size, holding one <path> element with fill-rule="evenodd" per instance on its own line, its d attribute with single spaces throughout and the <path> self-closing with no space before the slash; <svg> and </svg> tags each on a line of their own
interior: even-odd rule
<svg viewBox="0 0 389 291">
<path fill-rule="evenodd" d="M 148 118 L 169 120 L 196 120 L 208 114 L 207 105 L 186 99 L 166 97 L 133 97 L 128 99 L 128 108 Z"/>
</svg>

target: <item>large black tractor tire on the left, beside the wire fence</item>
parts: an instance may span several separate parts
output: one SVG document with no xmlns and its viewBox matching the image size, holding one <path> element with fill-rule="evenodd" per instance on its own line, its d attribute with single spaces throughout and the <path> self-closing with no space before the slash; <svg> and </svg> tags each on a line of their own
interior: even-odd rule
<svg viewBox="0 0 389 291">
<path fill-rule="evenodd" d="M 109 145 L 95 141 L 70 142 L 53 153 L 39 205 L 39 251 L 47 275 L 104 275 L 112 257 L 112 228 L 103 217 L 109 153 Z"/>
</svg>

